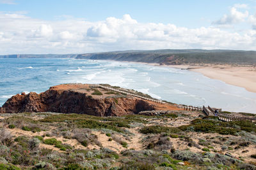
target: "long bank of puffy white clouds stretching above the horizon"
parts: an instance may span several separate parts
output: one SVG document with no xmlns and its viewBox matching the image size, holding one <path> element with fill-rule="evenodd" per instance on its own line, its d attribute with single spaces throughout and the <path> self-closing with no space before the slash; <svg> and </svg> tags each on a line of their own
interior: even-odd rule
<svg viewBox="0 0 256 170">
<path fill-rule="evenodd" d="M 252 17 L 252 21 L 254 18 Z M 188 29 L 174 24 L 140 23 L 130 15 L 98 22 L 67 18 L 39 20 L 0 13 L 0 53 L 85 53 L 112 50 L 204 48 L 256 50 L 256 31 L 216 27 Z"/>
</svg>

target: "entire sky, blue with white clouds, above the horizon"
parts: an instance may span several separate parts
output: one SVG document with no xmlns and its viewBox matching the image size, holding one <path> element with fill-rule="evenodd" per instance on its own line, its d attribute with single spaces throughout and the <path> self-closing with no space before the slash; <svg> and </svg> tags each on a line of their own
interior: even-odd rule
<svg viewBox="0 0 256 170">
<path fill-rule="evenodd" d="M 256 0 L 0 0 L 0 55 L 256 50 Z"/>
</svg>

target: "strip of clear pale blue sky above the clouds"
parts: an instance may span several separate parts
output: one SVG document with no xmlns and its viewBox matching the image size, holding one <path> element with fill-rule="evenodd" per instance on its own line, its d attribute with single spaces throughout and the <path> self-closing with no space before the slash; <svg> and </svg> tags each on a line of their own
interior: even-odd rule
<svg viewBox="0 0 256 170">
<path fill-rule="evenodd" d="M 120 18 L 129 13 L 138 22 L 161 22 L 189 28 L 211 25 L 211 20 L 220 18 L 234 4 L 248 4 L 248 11 L 256 9 L 256 1 L 252 0 L 5 0 L 3 2 L 7 3 L 0 5 L 1 11 L 23 11 L 29 17 L 42 20 L 56 20 L 67 15 L 98 21 L 107 17 Z"/>
</svg>

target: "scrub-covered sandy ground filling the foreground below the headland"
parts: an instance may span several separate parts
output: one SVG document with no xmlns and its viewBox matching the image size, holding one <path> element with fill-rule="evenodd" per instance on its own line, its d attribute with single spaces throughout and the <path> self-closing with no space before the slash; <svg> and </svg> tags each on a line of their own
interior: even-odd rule
<svg viewBox="0 0 256 170">
<path fill-rule="evenodd" d="M 249 146 L 256 144 L 255 124 L 221 122 L 215 117 L 195 119 L 194 115 L 185 117 L 182 113 L 185 111 L 124 117 L 58 113 L 4 115 L 3 127 L 51 130 L 40 132 L 42 136 L 31 136 L 26 131 L 12 136 L 8 132 L 12 131 L 10 127 L 0 128 L 0 169 L 255 169 L 253 162 L 245 162 L 256 159 L 255 154 L 248 154 Z M 189 125 L 174 127 L 177 119 L 173 118 L 177 117 L 185 123 L 194 120 Z M 236 133 L 223 136 L 220 129 Z M 143 148 L 136 150 L 132 148 L 133 139 L 140 132 L 140 141 L 136 141 Z M 219 134 L 204 134 L 212 132 Z M 104 136 L 103 144 L 98 138 Z M 122 152 L 116 153 L 113 144 L 124 147 Z M 51 150 L 45 145 L 55 148 Z M 192 152 L 193 147 L 198 152 Z M 241 157 L 236 159 L 233 153 Z"/>
</svg>

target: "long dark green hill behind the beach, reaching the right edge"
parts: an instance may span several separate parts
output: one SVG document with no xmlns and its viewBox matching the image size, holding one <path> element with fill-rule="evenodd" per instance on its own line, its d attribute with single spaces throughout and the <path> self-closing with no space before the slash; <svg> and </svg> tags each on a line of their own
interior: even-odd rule
<svg viewBox="0 0 256 170">
<path fill-rule="evenodd" d="M 159 64 L 256 64 L 255 51 L 243 50 L 134 50 L 84 53 L 76 59 L 119 60 Z"/>
</svg>

